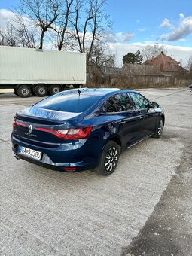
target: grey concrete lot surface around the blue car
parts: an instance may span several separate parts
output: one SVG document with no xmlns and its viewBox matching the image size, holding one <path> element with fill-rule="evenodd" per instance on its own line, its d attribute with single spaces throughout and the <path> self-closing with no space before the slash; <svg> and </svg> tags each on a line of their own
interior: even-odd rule
<svg viewBox="0 0 192 256">
<path fill-rule="evenodd" d="M 39 100 L 0 95 L 0 255 L 190 255 L 189 90 L 142 90 L 166 111 L 160 139 L 124 151 L 105 178 L 16 160 L 14 113 Z"/>
</svg>

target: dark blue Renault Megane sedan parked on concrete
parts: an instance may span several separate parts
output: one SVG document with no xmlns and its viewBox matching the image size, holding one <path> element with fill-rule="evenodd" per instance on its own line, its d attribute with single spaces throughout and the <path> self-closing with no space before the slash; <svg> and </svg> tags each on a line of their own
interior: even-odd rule
<svg viewBox="0 0 192 256">
<path fill-rule="evenodd" d="M 164 123 L 163 109 L 136 91 L 81 88 L 17 113 L 11 139 L 17 159 L 111 175 L 120 152 L 149 136 L 160 138 Z"/>
</svg>

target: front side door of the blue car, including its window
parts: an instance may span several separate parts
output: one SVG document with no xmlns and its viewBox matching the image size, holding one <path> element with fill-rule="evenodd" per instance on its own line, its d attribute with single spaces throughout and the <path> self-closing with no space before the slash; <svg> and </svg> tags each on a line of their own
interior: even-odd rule
<svg viewBox="0 0 192 256">
<path fill-rule="evenodd" d="M 140 111 L 140 126 L 141 134 L 140 137 L 144 138 L 145 136 L 151 135 L 154 133 L 156 124 L 157 124 L 157 113 L 151 108 L 151 103 L 139 93 L 132 92 L 129 93 L 130 98 L 133 99 L 135 108 Z"/>
</svg>

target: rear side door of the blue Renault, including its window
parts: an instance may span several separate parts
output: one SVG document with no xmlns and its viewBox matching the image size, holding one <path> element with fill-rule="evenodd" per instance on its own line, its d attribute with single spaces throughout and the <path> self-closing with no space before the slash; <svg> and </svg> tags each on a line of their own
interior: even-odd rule
<svg viewBox="0 0 192 256">
<path fill-rule="evenodd" d="M 115 126 L 123 147 L 128 147 L 138 140 L 141 114 L 134 108 L 127 93 L 118 93 L 108 99 L 106 114 L 117 116 Z"/>
</svg>

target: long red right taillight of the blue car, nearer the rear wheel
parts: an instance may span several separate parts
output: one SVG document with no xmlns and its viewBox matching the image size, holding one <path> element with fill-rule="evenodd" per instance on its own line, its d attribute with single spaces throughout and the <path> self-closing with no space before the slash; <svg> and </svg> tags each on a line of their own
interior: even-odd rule
<svg viewBox="0 0 192 256">
<path fill-rule="evenodd" d="M 43 127 L 36 127 L 35 130 L 51 133 L 59 139 L 85 139 L 87 136 L 89 136 L 92 126 L 65 130 L 53 130 Z"/>
</svg>

